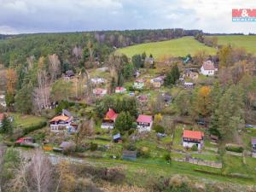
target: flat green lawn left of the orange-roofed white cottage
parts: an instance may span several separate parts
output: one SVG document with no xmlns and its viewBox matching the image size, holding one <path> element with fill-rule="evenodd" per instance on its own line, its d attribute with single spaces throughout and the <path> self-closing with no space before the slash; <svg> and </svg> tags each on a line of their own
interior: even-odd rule
<svg viewBox="0 0 256 192">
<path fill-rule="evenodd" d="M 22 115 L 20 113 L 8 113 L 9 116 L 14 118 L 14 124 L 17 127 L 29 127 L 32 125 L 38 125 L 41 122 L 45 122 L 46 119 L 43 117 L 38 117 L 34 115 Z"/>
</svg>

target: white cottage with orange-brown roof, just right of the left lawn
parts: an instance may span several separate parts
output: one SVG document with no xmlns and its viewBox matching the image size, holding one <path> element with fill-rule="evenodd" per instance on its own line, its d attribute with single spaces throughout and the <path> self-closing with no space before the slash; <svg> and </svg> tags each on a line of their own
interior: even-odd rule
<svg viewBox="0 0 256 192">
<path fill-rule="evenodd" d="M 52 132 L 68 131 L 72 126 L 71 125 L 72 121 L 73 121 L 73 116 L 71 114 L 67 116 L 67 110 L 65 111 L 62 110 L 61 115 L 56 116 L 55 118 L 49 121 L 50 131 Z"/>
</svg>

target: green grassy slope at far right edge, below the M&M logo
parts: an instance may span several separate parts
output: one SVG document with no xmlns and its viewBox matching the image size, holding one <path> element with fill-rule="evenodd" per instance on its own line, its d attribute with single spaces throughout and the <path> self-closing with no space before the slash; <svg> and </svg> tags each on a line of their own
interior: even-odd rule
<svg viewBox="0 0 256 192">
<path fill-rule="evenodd" d="M 232 44 L 236 47 L 243 47 L 250 53 L 256 53 L 256 36 L 228 35 L 218 36 L 218 44 Z"/>
</svg>

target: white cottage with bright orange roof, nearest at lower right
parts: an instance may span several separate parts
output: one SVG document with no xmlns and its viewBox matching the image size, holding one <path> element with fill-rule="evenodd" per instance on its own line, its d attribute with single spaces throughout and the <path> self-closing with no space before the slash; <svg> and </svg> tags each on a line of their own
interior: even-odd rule
<svg viewBox="0 0 256 192">
<path fill-rule="evenodd" d="M 183 147 L 192 148 L 195 145 L 198 149 L 204 146 L 204 133 L 201 131 L 183 131 Z"/>
</svg>

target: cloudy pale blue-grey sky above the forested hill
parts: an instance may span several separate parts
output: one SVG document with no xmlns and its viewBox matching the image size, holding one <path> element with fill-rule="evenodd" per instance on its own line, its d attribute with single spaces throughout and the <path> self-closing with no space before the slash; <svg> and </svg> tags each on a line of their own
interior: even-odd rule
<svg viewBox="0 0 256 192">
<path fill-rule="evenodd" d="M 232 9 L 256 0 L 0 0 L 0 33 L 183 28 L 256 32 L 256 22 L 232 22 Z"/>
</svg>

